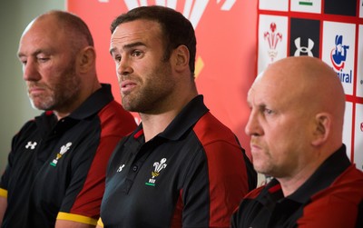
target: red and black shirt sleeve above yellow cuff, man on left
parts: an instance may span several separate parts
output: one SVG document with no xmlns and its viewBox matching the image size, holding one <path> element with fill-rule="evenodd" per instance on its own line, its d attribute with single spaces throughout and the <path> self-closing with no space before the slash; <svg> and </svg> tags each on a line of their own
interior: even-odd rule
<svg viewBox="0 0 363 228">
<path fill-rule="evenodd" d="M 95 219 L 100 216 L 101 202 L 105 186 L 106 167 L 114 147 L 121 138 L 136 127 L 131 114 L 125 112 L 120 104 L 114 101 L 107 105 L 100 113 L 101 133 L 98 138 L 90 138 L 83 144 L 94 144 L 99 142 L 93 157 L 87 157 L 86 150 L 74 159 L 74 172 L 72 180 L 66 190 L 60 212 L 83 215 Z M 93 148 L 93 147 L 91 147 Z M 94 148 L 93 148 L 94 151 Z M 89 164 L 89 160 L 92 164 Z M 86 176 L 84 176 L 86 175 Z M 76 197 L 74 199 L 74 192 Z M 67 219 L 64 216 L 64 219 Z"/>
</svg>

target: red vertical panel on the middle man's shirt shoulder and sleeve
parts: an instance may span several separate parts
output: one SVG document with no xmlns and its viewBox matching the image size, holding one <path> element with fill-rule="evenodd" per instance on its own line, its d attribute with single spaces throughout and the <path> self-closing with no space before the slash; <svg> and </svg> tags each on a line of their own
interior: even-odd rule
<svg viewBox="0 0 363 228">
<path fill-rule="evenodd" d="M 249 192 L 242 151 L 231 130 L 211 113 L 202 116 L 193 130 L 208 160 L 210 226 L 229 227 L 231 214 Z"/>
</svg>

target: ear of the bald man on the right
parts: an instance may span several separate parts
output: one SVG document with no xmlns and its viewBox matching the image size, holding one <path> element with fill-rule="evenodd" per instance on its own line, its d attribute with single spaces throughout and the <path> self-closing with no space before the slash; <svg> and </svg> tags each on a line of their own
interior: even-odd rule
<svg viewBox="0 0 363 228">
<path fill-rule="evenodd" d="M 315 116 L 315 127 L 313 145 L 320 145 L 327 141 L 330 134 L 331 115 L 327 113 L 320 113 Z"/>
</svg>

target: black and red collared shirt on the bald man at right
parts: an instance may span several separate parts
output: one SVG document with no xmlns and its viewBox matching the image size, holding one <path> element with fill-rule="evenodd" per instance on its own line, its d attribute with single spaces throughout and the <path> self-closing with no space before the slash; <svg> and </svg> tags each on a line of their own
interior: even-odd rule
<svg viewBox="0 0 363 228">
<path fill-rule="evenodd" d="M 249 193 L 232 227 L 363 227 L 363 173 L 342 145 L 295 193 L 284 197 L 276 179 Z"/>
</svg>

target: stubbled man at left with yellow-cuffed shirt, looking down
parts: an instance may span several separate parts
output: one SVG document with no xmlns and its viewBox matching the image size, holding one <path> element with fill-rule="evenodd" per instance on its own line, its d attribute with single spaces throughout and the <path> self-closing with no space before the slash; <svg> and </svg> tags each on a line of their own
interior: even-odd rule
<svg viewBox="0 0 363 228">
<path fill-rule="evenodd" d="M 100 83 L 88 26 L 50 11 L 25 28 L 18 58 L 34 108 L 13 137 L 0 179 L 2 228 L 90 228 L 100 215 L 108 158 L 136 127 Z M 11 95 L 11 94 L 9 94 Z"/>
</svg>

